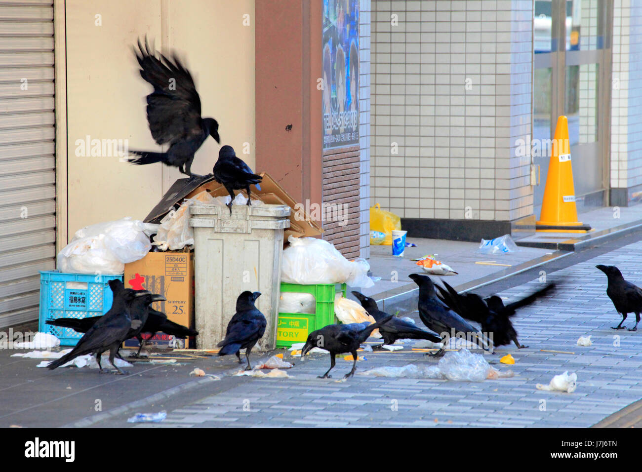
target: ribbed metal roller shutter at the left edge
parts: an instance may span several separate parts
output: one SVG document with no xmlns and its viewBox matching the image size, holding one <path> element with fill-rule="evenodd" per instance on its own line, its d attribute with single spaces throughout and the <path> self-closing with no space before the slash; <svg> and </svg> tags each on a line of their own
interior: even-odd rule
<svg viewBox="0 0 642 472">
<path fill-rule="evenodd" d="M 0 329 L 38 318 L 55 268 L 53 1 L 0 0 Z"/>
</svg>

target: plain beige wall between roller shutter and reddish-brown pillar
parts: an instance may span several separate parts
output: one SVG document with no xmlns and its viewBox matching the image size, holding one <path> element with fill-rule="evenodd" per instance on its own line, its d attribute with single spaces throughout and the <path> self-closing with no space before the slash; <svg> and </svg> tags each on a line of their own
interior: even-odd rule
<svg viewBox="0 0 642 472">
<path fill-rule="evenodd" d="M 245 13 L 250 26 L 243 25 Z M 94 24 L 96 14 L 101 26 Z M 210 173 L 222 144 L 241 154 L 243 143 L 250 143 L 250 154 L 242 157 L 254 166 L 254 0 L 67 0 L 68 165 L 66 178 L 61 171 L 58 179 L 62 200 L 67 182 L 69 238 L 92 223 L 144 218 L 180 178 L 177 169 L 162 164 L 132 166 L 118 157 L 75 155 L 76 139 L 86 135 L 128 139 L 132 149 L 159 149 L 145 114 L 144 96 L 152 88 L 139 76 L 132 53 L 132 44 L 145 34 L 157 49 L 179 53 L 195 80 L 202 115 L 219 122 L 221 144 L 208 138 L 192 171 Z M 56 49 L 61 47 L 58 37 Z M 65 110 L 57 112 L 56 119 L 64 120 Z"/>
</svg>

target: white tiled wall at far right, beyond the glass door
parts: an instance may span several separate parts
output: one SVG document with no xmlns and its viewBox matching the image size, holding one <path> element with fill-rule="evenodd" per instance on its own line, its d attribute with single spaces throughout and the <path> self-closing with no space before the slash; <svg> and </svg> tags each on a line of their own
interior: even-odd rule
<svg viewBox="0 0 642 472">
<path fill-rule="evenodd" d="M 642 184 L 642 3 L 614 0 L 611 187 Z"/>
</svg>

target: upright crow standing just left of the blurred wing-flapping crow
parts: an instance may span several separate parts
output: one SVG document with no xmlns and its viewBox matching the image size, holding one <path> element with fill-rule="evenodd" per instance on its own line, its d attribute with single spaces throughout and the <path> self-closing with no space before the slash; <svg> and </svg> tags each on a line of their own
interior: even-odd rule
<svg viewBox="0 0 642 472">
<path fill-rule="evenodd" d="M 419 318 L 428 329 L 435 331 L 442 337 L 444 346 L 433 356 L 444 355 L 444 349 L 449 337 L 462 336 L 474 342 L 482 349 L 487 349 L 482 338 L 478 335 L 478 329 L 464 320 L 455 311 L 451 310 L 444 302 L 437 298 L 435 284 L 428 275 L 410 274 L 410 278 L 419 285 Z"/>
</svg>

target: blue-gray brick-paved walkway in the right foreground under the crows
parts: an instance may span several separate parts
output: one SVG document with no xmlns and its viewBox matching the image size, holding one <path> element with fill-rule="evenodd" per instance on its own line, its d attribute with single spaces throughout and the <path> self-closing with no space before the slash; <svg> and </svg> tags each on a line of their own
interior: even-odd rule
<svg viewBox="0 0 642 472">
<path fill-rule="evenodd" d="M 566 284 L 517 315 L 519 338 L 530 348 L 499 349 L 512 353 L 516 359 L 513 366 L 499 364 L 499 354 L 492 356 L 499 370 L 515 372 L 513 378 L 472 383 L 355 376 L 337 381 L 351 366 L 338 360 L 335 378 L 320 380 L 316 376 L 329 367 L 329 360 L 327 354 L 318 354 L 302 365 L 297 362 L 289 371 L 291 379 L 248 380 L 170 410 L 163 423 L 136 427 L 591 426 L 642 398 L 642 332 L 610 328 L 620 317 L 605 293 L 606 277 L 594 265 L 617 265 L 625 277 L 642 282 L 641 262 L 642 242 L 638 242 L 546 274 L 549 281 Z M 539 281 L 532 281 L 501 295 L 516 297 L 539 286 Z M 632 326 L 632 321 L 627 326 Z M 593 345 L 577 346 L 580 335 L 591 335 Z M 616 341 L 618 346 L 614 346 Z M 358 371 L 379 365 L 436 362 L 421 353 L 403 351 L 364 355 L 367 360 L 358 363 Z M 564 371 L 577 372 L 574 393 L 535 389 L 535 383 L 548 383 Z"/>
</svg>

